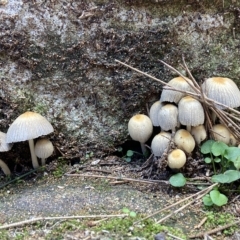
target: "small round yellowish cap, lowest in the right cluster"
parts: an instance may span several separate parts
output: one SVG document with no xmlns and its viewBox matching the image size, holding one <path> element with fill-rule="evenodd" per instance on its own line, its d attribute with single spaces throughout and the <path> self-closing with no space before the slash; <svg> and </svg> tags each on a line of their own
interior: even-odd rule
<svg viewBox="0 0 240 240">
<path fill-rule="evenodd" d="M 168 166 L 172 169 L 179 169 L 186 163 L 186 154 L 181 149 L 174 149 L 168 154 Z"/>
</svg>

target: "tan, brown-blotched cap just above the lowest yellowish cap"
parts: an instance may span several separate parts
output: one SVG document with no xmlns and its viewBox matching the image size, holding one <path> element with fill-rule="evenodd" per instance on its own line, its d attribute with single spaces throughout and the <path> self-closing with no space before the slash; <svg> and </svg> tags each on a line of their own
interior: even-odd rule
<svg viewBox="0 0 240 240">
<path fill-rule="evenodd" d="M 195 148 L 195 140 L 193 136 L 185 129 L 179 129 L 176 132 L 174 136 L 174 142 L 178 148 L 187 153 L 191 153 Z"/>
</svg>

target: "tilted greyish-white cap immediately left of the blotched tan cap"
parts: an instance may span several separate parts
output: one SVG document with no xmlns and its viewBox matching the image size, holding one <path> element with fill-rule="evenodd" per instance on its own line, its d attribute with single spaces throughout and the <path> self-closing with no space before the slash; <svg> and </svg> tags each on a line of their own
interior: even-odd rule
<svg viewBox="0 0 240 240">
<path fill-rule="evenodd" d="M 151 149 L 155 156 L 160 157 L 168 147 L 171 140 L 171 134 L 168 132 L 160 132 L 157 134 L 151 143 Z"/>
</svg>

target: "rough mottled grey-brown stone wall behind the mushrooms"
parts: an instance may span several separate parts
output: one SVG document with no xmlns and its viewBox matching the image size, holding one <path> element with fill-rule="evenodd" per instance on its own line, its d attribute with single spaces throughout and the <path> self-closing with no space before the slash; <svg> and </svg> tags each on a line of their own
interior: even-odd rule
<svg viewBox="0 0 240 240">
<path fill-rule="evenodd" d="M 114 150 L 132 114 L 146 113 L 164 81 L 183 71 L 198 81 L 239 83 L 240 2 L 196 0 L 1 0 L 0 130 L 26 110 L 54 125 L 64 153 Z"/>
</svg>

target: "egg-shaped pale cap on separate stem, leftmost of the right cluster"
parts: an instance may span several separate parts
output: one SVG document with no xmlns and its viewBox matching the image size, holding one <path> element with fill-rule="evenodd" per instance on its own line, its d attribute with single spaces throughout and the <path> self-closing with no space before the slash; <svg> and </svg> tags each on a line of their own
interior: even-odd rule
<svg viewBox="0 0 240 240">
<path fill-rule="evenodd" d="M 152 135 L 153 125 L 151 119 L 144 114 L 137 114 L 128 122 L 128 132 L 131 138 L 145 143 Z"/>
</svg>

